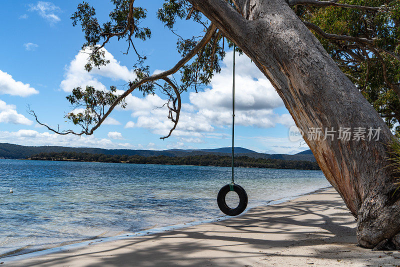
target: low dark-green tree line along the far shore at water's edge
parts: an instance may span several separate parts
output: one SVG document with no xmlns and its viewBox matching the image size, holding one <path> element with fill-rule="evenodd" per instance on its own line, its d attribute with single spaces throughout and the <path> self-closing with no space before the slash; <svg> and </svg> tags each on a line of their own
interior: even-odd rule
<svg viewBox="0 0 400 267">
<path fill-rule="evenodd" d="M 86 161 L 111 163 L 197 165 L 197 166 L 231 166 L 231 157 L 227 155 L 189 155 L 189 156 L 140 156 L 140 155 L 107 155 L 83 152 L 41 152 L 27 157 L 31 160 Z M 236 167 L 282 168 L 282 169 L 320 169 L 316 162 L 305 160 L 283 160 L 272 158 L 253 158 L 237 156 Z"/>
</svg>

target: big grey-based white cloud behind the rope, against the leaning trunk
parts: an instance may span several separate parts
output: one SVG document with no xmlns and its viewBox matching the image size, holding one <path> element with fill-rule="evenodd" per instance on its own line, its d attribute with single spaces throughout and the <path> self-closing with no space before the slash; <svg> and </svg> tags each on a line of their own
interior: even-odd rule
<svg viewBox="0 0 400 267">
<path fill-rule="evenodd" d="M 210 88 L 190 92 L 191 104 L 212 124 L 229 125 L 232 120 L 232 52 L 228 52 L 221 72 L 216 74 Z M 251 60 L 236 57 L 235 123 L 244 126 L 273 127 L 279 121 L 273 108 L 283 106 L 283 101 Z"/>
</svg>

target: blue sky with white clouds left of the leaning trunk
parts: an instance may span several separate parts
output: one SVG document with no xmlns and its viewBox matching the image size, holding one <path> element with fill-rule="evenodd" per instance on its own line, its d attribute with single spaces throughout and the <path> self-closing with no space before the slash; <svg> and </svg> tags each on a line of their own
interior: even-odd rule
<svg viewBox="0 0 400 267">
<path fill-rule="evenodd" d="M 88 1 L 99 21 L 111 10 L 107 1 Z M 147 9 L 141 26 L 151 29 L 149 40 L 135 41 L 147 56 L 150 72 L 169 69 L 179 59 L 177 37 L 156 18 L 162 0 L 136 0 Z M 133 91 L 125 109 L 116 108 L 104 123 L 88 136 L 58 135 L 37 124 L 27 112 L 60 129 L 79 128 L 66 122 L 71 111 L 65 96 L 74 87 L 86 85 L 107 89 L 115 85 L 120 93 L 134 79 L 136 55 L 123 54 L 124 40 L 105 46 L 110 63 L 91 72 L 84 70 L 87 54 L 80 51 L 84 42 L 80 26 L 72 26 L 71 14 L 80 1 L 3 1 L 0 16 L 0 142 L 21 145 L 62 145 L 124 149 L 195 149 L 231 145 L 232 51 L 221 62 L 221 72 L 203 90 L 182 94 L 182 110 L 176 129 L 160 140 L 172 126 L 165 96 Z M 198 25 L 178 21 L 175 30 L 189 37 L 203 34 Z M 257 152 L 293 154 L 308 149 L 304 141 L 289 139 L 294 124 L 275 89 L 246 55 L 236 54 L 235 64 L 235 146 Z M 176 76 L 179 79 L 178 76 Z M 161 108 L 160 108 L 161 107 Z"/>
</svg>

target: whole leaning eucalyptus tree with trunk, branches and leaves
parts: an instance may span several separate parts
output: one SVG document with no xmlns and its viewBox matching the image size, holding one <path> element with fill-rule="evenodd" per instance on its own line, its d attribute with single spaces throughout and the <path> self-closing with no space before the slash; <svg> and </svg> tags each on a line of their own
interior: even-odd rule
<svg viewBox="0 0 400 267">
<path fill-rule="evenodd" d="M 102 48 L 117 39 L 125 46 L 124 53 L 137 55 L 135 76 L 120 95 L 113 86 L 108 91 L 90 84 L 74 88 L 67 99 L 85 110 L 68 113 L 67 118 L 81 131 L 48 129 L 92 134 L 115 106 L 125 106 L 124 98 L 133 90 L 145 95 L 161 88 L 173 122 L 161 137 L 166 138 L 179 120 L 180 94 L 206 85 L 220 70 L 227 46 L 234 43 L 270 80 L 298 128 L 320 129 L 324 135 L 305 141 L 355 217 L 359 244 L 400 248 L 400 190 L 395 191 L 395 174 L 386 160 L 386 145 L 392 138 L 389 127 L 399 111 L 397 0 L 165 0 L 154 14 L 165 27 L 174 31 L 176 21 L 186 19 L 202 26 L 204 34 L 177 35 L 181 59 L 152 75 L 146 57 L 135 48 L 138 40 L 151 37 L 151 29 L 140 23 L 146 19 L 146 9 L 134 0 L 111 3 L 104 23 L 86 2 L 71 16 L 84 33 L 82 49 L 89 52 L 85 68 L 106 65 Z M 379 129 L 379 138 L 339 138 L 336 130 L 341 128 Z M 329 130 L 333 133 L 326 138 Z"/>
</svg>

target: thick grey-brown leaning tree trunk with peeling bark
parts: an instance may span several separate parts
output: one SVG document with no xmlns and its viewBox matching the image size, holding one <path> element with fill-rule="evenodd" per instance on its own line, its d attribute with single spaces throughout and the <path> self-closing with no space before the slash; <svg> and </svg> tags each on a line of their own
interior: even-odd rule
<svg viewBox="0 0 400 267">
<path fill-rule="evenodd" d="M 389 128 L 284 0 L 189 0 L 268 77 L 296 125 L 380 128 L 379 140 L 308 140 L 320 168 L 357 221 L 364 247 L 400 247 L 399 197 L 386 167 Z"/>
</svg>

